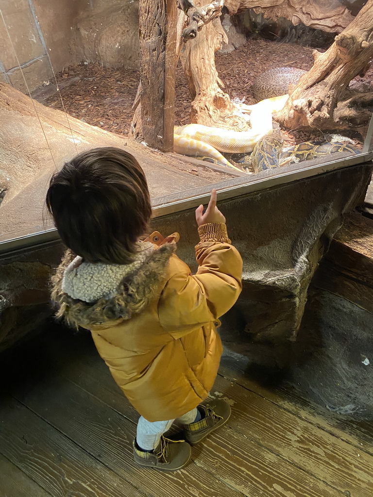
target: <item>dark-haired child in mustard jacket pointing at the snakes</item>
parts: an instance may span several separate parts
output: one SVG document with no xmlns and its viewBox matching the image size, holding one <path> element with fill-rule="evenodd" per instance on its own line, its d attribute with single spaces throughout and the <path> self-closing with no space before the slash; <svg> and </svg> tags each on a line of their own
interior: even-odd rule
<svg viewBox="0 0 373 497">
<path fill-rule="evenodd" d="M 151 218 L 145 175 L 128 152 L 84 152 L 55 174 L 47 206 L 68 250 L 53 277 L 58 316 L 90 330 L 97 350 L 141 415 L 133 442 L 144 467 L 186 466 L 190 445 L 230 416 L 223 400 L 201 404 L 215 381 L 218 318 L 241 291 L 242 259 L 228 239 L 213 190 L 195 214 L 198 271 L 175 255 L 178 234 L 145 241 Z M 164 436 L 183 425 L 179 442 Z"/>
</svg>

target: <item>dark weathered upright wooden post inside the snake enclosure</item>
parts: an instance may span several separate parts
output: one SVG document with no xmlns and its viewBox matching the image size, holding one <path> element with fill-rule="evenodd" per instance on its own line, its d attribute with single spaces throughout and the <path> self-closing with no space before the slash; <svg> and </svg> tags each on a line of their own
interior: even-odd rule
<svg viewBox="0 0 373 497">
<path fill-rule="evenodd" d="M 175 0 L 140 0 L 142 138 L 162 152 L 174 150 L 176 27 Z"/>
</svg>

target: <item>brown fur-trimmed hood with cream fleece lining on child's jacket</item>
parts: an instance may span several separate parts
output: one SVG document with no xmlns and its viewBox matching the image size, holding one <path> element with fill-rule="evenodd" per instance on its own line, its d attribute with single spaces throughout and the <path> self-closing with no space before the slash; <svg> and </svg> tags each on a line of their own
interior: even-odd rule
<svg viewBox="0 0 373 497">
<path fill-rule="evenodd" d="M 176 249 L 175 243 L 166 243 L 154 248 L 149 246 L 148 243 L 144 244 L 143 255 L 131 265 L 113 264 L 109 268 L 99 265 L 102 267 L 94 268 L 94 264 L 89 264 L 90 267 L 87 267 L 87 263 L 84 263 L 86 266 L 82 267 L 81 274 L 78 274 L 81 261 L 67 250 L 56 274 L 52 277 L 52 300 L 59 307 L 57 317 L 64 317 L 69 325 L 75 327 L 100 330 L 111 328 L 121 321 L 130 319 L 133 314 L 141 312 L 149 303 L 154 291 L 164 281 L 166 266 Z M 108 273 L 108 270 L 111 273 Z M 103 275 L 112 275 L 113 270 L 117 273 L 112 277 L 112 281 L 117 280 L 117 283 L 114 283 L 111 292 L 107 291 L 107 285 L 102 289 L 103 285 L 99 281 L 93 281 L 94 278 L 98 280 Z M 90 275 L 87 289 L 82 284 L 74 285 L 74 278 L 82 280 L 84 274 Z M 97 298 L 99 295 L 97 291 L 100 290 L 103 296 Z M 77 295 L 80 298 L 74 298 Z M 85 295 L 93 295 L 97 300 L 86 302 L 85 300 L 91 299 Z"/>
</svg>

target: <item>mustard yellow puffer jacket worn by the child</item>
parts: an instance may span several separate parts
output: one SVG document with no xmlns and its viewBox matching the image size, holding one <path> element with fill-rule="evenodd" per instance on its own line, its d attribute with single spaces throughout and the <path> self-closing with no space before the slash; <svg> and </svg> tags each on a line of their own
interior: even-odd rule
<svg viewBox="0 0 373 497">
<path fill-rule="evenodd" d="M 149 421 L 177 418 L 208 396 L 222 353 L 218 318 L 241 292 L 242 259 L 225 224 L 202 225 L 198 232 L 194 275 L 174 253 L 175 243 L 166 243 L 151 246 L 115 292 L 94 302 L 64 291 L 68 267 L 79 277 L 79 258 L 71 252 L 53 277 L 58 316 L 92 332 L 114 380 Z"/>
</svg>

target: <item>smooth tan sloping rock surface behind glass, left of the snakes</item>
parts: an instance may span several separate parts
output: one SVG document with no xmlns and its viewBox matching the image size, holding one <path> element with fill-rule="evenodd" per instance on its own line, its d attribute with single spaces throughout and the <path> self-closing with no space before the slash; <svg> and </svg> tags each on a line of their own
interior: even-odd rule
<svg viewBox="0 0 373 497">
<path fill-rule="evenodd" d="M 123 136 L 45 107 L 6 83 L 0 83 L 0 122 L 0 192 L 5 190 L 0 240 L 42 231 L 44 220 L 48 222 L 44 204 L 52 173 L 77 153 L 95 147 L 131 152 L 144 168 L 152 197 L 237 176 L 233 170 L 208 172 L 204 163 L 195 166 L 182 156 L 166 157 L 143 145 L 127 144 Z"/>
</svg>

